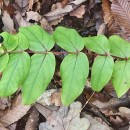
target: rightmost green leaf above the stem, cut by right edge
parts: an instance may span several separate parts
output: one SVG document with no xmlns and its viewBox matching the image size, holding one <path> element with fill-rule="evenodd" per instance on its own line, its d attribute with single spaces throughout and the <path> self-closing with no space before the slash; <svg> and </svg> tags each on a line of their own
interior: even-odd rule
<svg viewBox="0 0 130 130">
<path fill-rule="evenodd" d="M 130 43 L 123 40 L 119 36 L 113 35 L 109 38 L 110 52 L 113 56 L 120 58 L 130 57 Z"/>
</svg>

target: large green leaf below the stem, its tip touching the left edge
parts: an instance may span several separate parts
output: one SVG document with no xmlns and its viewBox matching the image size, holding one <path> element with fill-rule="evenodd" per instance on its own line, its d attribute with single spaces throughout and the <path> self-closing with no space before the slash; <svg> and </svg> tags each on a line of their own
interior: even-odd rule
<svg viewBox="0 0 130 130">
<path fill-rule="evenodd" d="M 0 81 L 0 96 L 10 96 L 21 85 L 30 67 L 30 56 L 26 53 L 11 54 L 9 63 Z"/>
</svg>

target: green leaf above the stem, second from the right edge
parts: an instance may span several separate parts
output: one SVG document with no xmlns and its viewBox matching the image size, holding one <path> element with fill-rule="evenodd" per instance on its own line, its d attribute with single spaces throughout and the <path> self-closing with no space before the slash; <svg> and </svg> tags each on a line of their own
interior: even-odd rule
<svg viewBox="0 0 130 130">
<path fill-rule="evenodd" d="M 85 46 L 98 54 L 106 54 L 110 51 L 109 41 L 104 35 L 84 38 Z"/>
</svg>

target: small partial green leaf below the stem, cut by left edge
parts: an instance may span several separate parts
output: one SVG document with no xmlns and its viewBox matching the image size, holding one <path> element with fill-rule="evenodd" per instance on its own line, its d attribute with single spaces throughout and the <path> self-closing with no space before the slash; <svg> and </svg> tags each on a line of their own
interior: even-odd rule
<svg viewBox="0 0 130 130">
<path fill-rule="evenodd" d="M 2 72 L 9 61 L 9 54 L 4 54 L 0 56 L 0 72 Z"/>
</svg>

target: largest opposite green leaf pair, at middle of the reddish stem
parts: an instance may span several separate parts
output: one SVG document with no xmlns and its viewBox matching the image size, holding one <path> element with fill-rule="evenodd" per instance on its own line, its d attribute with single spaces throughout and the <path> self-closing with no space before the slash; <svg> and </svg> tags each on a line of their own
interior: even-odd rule
<svg viewBox="0 0 130 130">
<path fill-rule="evenodd" d="M 83 91 L 89 73 L 87 56 L 79 52 L 84 47 L 82 37 L 74 29 L 58 27 L 54 32 L 56 43 L 68 52 L 60 66 L 62 78 L 62 103 L 69 105 Z"/>
</svg>

